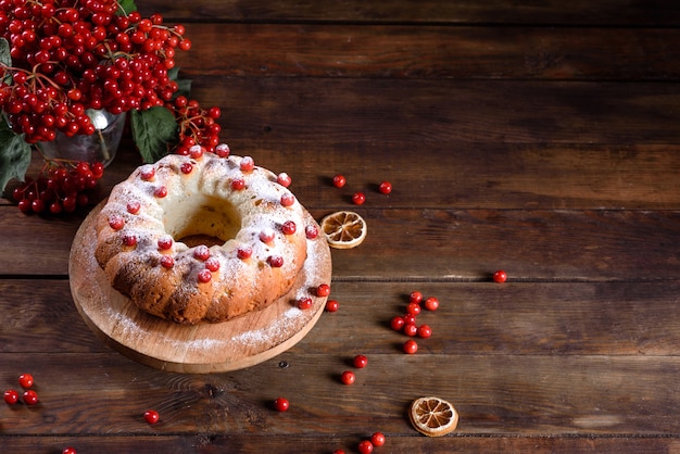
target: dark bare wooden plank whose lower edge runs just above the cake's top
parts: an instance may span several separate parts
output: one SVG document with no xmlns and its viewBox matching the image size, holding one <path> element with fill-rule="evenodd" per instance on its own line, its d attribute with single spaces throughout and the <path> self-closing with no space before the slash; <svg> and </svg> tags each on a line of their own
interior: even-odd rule
<svg viewBox="0 0 680 454">
<path fill-rule="evenodd" d="M 354 143 L 348 155 L 376 144 L 680 141 L 675 84 L 205 76 L 194 80 L 193 96 L 225 106 L 222 137 L 244 152 L 291 138 Z"/>
</svg>

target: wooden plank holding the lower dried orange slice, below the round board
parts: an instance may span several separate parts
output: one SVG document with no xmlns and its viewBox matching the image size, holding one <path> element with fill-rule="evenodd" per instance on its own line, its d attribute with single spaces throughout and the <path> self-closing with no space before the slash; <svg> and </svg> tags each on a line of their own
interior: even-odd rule
<svg viewBox="0 0 680 454">
<path fill-rule="evenodd" d="M 209 376 L 161 373 L 112 354 L 36 353 L 27 360 L 23 353 L 2 353 L 2 382 L 12 386 L 30 367 L 40 396 L 36 407 L 10 409 L 3 436 L 355 437 L 382 430 L 413 437 L 406 408 L 413 399 L 432 394 L 456 406 L 461 434 L 664 436 L 680 430 L 678 356 L 395 351 L 373 355 L 356 382 L 345 386 L 338 377 L 354 352 L 291 351 L 247 370 Z M 426 376 L 425 370 L 437 373 Z M 291 402 L 285 415 L 270 407 L 280 395 Z M 163 421 L 153 427 L 141 417 L 151 407 Z"/>
</svg>

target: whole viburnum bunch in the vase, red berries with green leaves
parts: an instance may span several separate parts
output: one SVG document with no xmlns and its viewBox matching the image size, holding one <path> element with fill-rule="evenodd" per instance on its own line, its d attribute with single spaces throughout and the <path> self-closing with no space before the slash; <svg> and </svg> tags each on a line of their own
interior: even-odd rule
<svg viewBox="0 0 680 454">
<path fill-rule="evenodd" d="M 190 48 L 182 25 L 142 17 L 133 0 L 0 0 L 0 190 L 41 142 L 95 134 L 92 111 L 129 112 L 144 162 L 214 150 L 219 109 L 177 78 L 176 52 Z"/>
</svg>

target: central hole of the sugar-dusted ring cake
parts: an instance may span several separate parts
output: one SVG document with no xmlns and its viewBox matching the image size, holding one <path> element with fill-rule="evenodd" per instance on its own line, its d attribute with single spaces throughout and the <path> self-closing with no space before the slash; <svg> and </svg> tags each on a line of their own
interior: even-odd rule
<svg viewBox="0 0 680 454">
<path fill-rule="evenodd" d="M 241 218 L 231 203 L 209 196 L 194 196 L 165 213 L 165 229 L 175 241 L 189 248 L 209 248 L 234 239 L 241 229 Z"/>
</svg>

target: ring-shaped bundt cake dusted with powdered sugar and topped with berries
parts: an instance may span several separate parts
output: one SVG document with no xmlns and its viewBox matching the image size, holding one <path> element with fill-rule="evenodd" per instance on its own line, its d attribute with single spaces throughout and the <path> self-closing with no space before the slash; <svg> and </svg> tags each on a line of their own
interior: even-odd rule
<svg viewBox="0 0 680 454">
<path fill-rule="evenodd" d="M 306 258 L 304 209 L 249 161 L 168 155 L 114 187 L 96 220 L 96 258 L 110 283 L 141 310 L 189 325 L 287 293 Z"/>
</svg>

